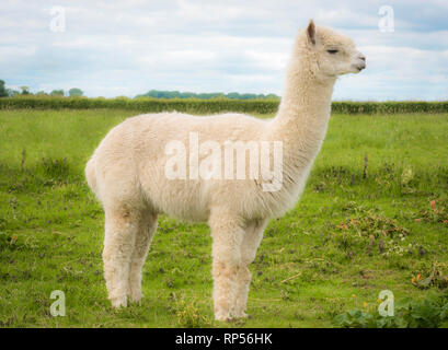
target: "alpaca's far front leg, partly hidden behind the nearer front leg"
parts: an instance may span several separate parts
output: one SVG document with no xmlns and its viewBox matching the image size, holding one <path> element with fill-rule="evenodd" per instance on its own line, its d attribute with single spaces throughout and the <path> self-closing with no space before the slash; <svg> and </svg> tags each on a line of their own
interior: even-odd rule
<svg viewBox="0 0 448 350">
<path fill-rule="evenodd" d="M 266 220 L 252 222 L 244 232 L 241 244 L 241 266 L 238 270 L 237 282 L 234 285 L 234 300 L 232 302 L 233 317 L 248 317 L 245 307 L 248 303 L 249 285 L 251 284 L 251 272 L 249 265 L 255 259 L 256 249 L 263 238 L 263 232 L 266 228 Z"/>
</svg>

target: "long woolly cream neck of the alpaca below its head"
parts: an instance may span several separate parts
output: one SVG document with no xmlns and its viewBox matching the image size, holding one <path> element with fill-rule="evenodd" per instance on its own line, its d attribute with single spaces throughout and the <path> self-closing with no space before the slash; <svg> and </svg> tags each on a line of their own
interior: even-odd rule
<svg viewBox="0 0 448 350">
<path fill-rule="evenodd" d="M 311 165 L 325 137 L 334 82 L 318 80 L 300 66 L 288 69 L 271 132 L 274 140 L 283 141 L 285 165 L 297 174 Z"/>
</svg>

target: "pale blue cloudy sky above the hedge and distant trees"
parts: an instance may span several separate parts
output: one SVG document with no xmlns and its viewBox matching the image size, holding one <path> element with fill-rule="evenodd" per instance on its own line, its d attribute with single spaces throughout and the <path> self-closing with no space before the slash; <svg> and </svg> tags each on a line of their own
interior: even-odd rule
<svg viewBox="0 0 448 350">
<path fill-rule="evenodd" d="M 282 95 L 309 19 L 349 35 L 367 57 L 365 71 L 340 79 L 335 100 L 448 100 L 446 0 L 1 0 L 0 79 L 106 97 Z"/>
</svg>

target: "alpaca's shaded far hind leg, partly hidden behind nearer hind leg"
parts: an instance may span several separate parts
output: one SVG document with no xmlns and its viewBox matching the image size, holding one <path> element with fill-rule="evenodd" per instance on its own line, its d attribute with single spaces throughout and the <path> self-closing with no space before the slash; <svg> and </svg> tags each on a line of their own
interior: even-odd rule
<svg viewBox="0 0 448 350">
<path fill-rule="evenodd" d="M 141 294 L 141 269 L 157 230 L 157 214 L 149 213 L 140 220 L 137 231 L 134 252 L 129 267 L 129 290 L 130 302 L 140 301 Z"/>
</svg>

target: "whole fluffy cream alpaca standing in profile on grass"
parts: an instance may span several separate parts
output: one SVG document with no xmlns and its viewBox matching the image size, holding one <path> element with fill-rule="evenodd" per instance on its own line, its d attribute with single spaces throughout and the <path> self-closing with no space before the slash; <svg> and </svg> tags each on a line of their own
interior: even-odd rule
<svg viewBox="0 0 448 350">
<path fill-rule="evenodd" d="M 365 60 L 352 39 L 315 27 L 310 21 L 295 42 L 284 96 L 273 119 L 242 114 L 198 117 L 162 113 L 128 118 L 113 128 L 85 167 L 88 184 L 105 212 L 103 261 L 112 305 L 140 301 L 141 269 L 158 215 L 163 213 L 179 220 L 208 222 L 215 317 L 246 317 L 249 265 L 255 258 L 263 231 L 269 219 L 295 206 L 305 187 L 326 132 L 336 78 L 359 72 L 366 67 Z M 268 182 L 260 174 L 222 178 L 215 176 L 219 175 L 215 171 L 208 177 L 186 176 L 197 175 L 197 161 L 210 160 L 210 152 L 203 148 L 198 151 L 192 142 L 195 138 L 208 145 L 229 140 L 244 144 L 280 142 L 282 172 L 271 177 L 271 183 L 280 179 L 280 186 L 265 190 L 262 184 Z M 183 176 L 172 178 L 166 175 L 166 166 L 174 151 L 184 159 L 197 152 L 197 159 L 192 162 L 189 155 L 185 166 L 177 162 L 173 168 Z M 275 163 L 271 153 L 267 159 Z M 220 170 L 221 160 L 217 161 L 215 153 L 211 161 Z"/>
</svg>

